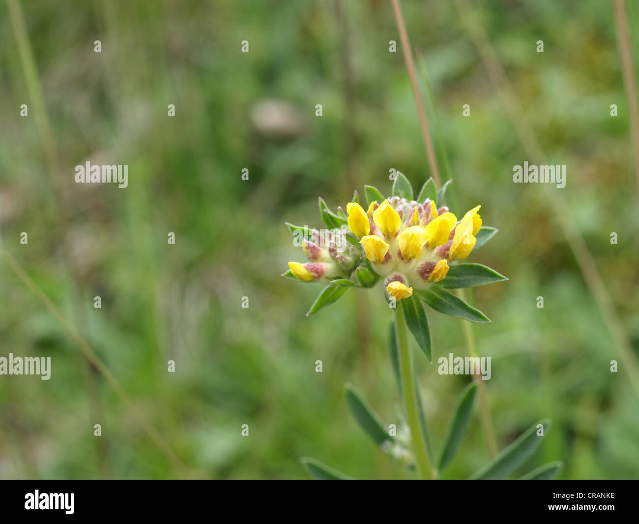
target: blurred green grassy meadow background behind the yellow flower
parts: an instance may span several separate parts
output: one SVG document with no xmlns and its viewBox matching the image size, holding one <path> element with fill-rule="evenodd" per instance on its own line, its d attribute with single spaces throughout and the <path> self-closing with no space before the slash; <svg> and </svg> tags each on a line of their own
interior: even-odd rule
<svg viewBox="0 0 639 524">
<path fill-rule="evenodd" d="M 385 424 L 397 422 L 381 288 L 352 290 L 307 318 L 321 288 L 280 276 L 288 260 L 304 259 L 284 221 L 322 226 L 318 195 L 335 208 L 364 184 L 390 193 L 390 168 L 418 190 L 430 176 L 390 3 L 24 2 L 35 83 L 11 4 L 0 3 L 3 246 L 132 405 L 0 260 L 0 356 L 52 358 L 49 381 L 0 376 L 0 477 L 307 478 L 299 459 L 312 456 L 354 477 L 411 478 L 357 427 L 343 396 L 349 381 Z M 550 417 L 549 438 L 521 473 L 562 460 L 560 478 L 638 478 L 638 399 L 621 363 L 610 372 L 617 347 L 546 189 L 512 183 L 512 166 L 534 162 L 468 29 L 452 3 L 402 4 L 441 123 L 432 131 L 449 155 L 459 205 L 451 210 L 481 203 L 484 225 L 500 229 L 469 258 L 510 279 L 474 291 L 493 321 L 474 329 L 493 359 L 486 391 L 498 445 Z M 567 166 L 566 187 L 552 191 L 565 199 L 636 358 L 637 187 L 612 4 L 473 6 L 527 124 L 550 163 Z M 86 161 L 128 164 L 128 188 L 75 184 Z M 468 355 L 461 321 L 429 318 L 433 364 L 420 353 L 416 362 L 438 451 L 470 379 L 436 372 L 439 356 Z M 177 458 L 151 440 L 135 409 Z M 478 413 L 446 478 L 488 460 Z"/>
</svg>

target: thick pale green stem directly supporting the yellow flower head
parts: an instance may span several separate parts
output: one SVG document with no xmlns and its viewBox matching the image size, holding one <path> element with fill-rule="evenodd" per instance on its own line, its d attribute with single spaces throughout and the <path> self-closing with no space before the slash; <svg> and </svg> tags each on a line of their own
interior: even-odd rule
<svg viewBox="0 0 639 524">
<path fill-rule="evenodd" d="M 415 373 L 413 372 L 413 355 L 408 345 L 408 334 L 406 329 L 406 319 L 404 310 L 399 304 L 396 314 L 397 322 L 397 352 L 399 353 L 399 373 L 401 374 L 402 392 L 404 395 L 404 406 L 406 406 L 406 417 L 408 427 L 413 440 L 413 450 L 417 459 L 417 471 L 422 479 L 429 478 L 430 468 L 428 465 L 428 455 L 422 426 L 419 423 L 419 412 L 417 411 L 417 390 L 415 389 Z"/>
</svg>

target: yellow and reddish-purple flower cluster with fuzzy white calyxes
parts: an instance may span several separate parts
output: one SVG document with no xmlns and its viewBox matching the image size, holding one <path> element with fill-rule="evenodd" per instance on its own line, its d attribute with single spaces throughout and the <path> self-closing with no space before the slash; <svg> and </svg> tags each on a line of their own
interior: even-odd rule
<svg viewBox="0 0 639 524">
<path fill-rule="evenodd" d="M 355 197 L 346 214 L 340 208 L 338 215 L 320 205 L 332 220 L 328 223 L 339 227 L 323 234 L 312 230 L 303 243 L 309 262 L 289 262 L 290 273 L 299 280 L 349 280 L 358 285 L 366 283 L 365 272 L 372 272 L 374 282 L 383 278 L 389 296 L 401 300 L 413 294 L 413 287 L 426 289 L 440 282 L 449 262 L 468 257 L 475 247 L 482 225 L 479 205 L 458 220 L 448 207 L 438 208 L 433 198 L 378 200 L 364 210 Z M 343 244 L 341 251 L 337 239 Z"/>
</svg>

